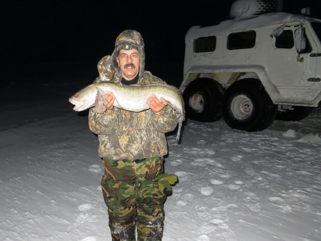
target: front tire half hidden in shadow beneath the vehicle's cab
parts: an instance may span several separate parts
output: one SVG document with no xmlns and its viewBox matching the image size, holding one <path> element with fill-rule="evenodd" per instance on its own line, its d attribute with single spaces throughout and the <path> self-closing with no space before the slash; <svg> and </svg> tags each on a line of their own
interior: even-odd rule
<svg viewBox="0 0 321 241">
<path fill-rule="evenodd" d="M 312 111 L 313 107 L 292 106 L 286 111 L 278 111 L 275 119 L 279 121 L 302 121 Z"/>
</svg>

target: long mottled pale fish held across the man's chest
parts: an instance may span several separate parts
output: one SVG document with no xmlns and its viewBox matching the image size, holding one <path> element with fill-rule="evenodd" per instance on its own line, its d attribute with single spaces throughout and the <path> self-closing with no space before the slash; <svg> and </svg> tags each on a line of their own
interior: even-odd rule
<svg viewBox="0 0 321 241">
<path fill-rule="evenodd" d="M 108 92 L 116 98 L 114 106 L 134 112 L 149 109 L 147 101 L 150 96 L 163 97 L 177 115 L 179 126 L 176 140 L 179 140 L 182 122 L 185 120 L 185 110 L 182 95 L 176 87 L 167 84 L 121 85 L 114 82 L 99 82 L 78 91 L 69 98 L 69 102 L 75 105 L 75 111 L 83 111 L 95 106 L 96 112 L 103 113 L 107 109 L 105 94 Z"/>
</svg>

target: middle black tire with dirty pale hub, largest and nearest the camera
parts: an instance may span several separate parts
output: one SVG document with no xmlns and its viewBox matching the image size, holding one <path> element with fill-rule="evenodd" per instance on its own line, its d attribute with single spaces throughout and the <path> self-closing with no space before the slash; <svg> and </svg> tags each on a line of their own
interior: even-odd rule
<svg viewBox="0 0 321 241">
<path fill-rule="evenodd" d="M 259 131 L 266 129 L 275 119 L 274 105 L 260 80 L 241 79 L 224 93 L 222 114 L 233 129 Z"/>
</svg>

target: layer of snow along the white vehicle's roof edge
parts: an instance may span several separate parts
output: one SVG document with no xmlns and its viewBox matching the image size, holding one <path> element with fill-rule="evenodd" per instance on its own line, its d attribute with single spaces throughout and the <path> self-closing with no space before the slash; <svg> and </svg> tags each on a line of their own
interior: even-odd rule
<svg viewBox="0 0 321 241">
<path fill-rule="evenodd" d="M 212 26 L 193 26 L 191 27 L 185 36 L 185 42 L 191 42 L 198 37 L 212 36 L 213 33 L 216 36 L 224 36 L 235 31 L 248 31 L 255 27 L 281 24 L 284 22 L 302 22 L 302 21 L 314 21 L 321 22 L 319 19 L 305 17 L 302 15 L 296 15 L 292 13 L 265 13 L 259 16 L 253 16 L 243 19 L 230 19 L 222 21 L 219 24 Z"/>
</svg>

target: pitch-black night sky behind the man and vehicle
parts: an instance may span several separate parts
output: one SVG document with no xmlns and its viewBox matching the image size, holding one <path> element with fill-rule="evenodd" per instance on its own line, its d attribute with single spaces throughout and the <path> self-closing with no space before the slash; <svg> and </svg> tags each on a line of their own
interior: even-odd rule
<svg viewBox="0 0 321 241">
<path fill-rule="evenodd" d="M 2 75 L 20 79 L 27 76 L 36 81 L 44 72 L 69 77 L 82 72 L 91 78 L 90 83 L 98 75 L 97 62 L 112 53 L 117 35 L 135 29 L 145 41 L 146 69 L 161 78 L 171 73 L 181 80 L 187 30 L 228 19 L 233 1 L 72 4 L 49 0 L 2 4 Z M 321 17 L 319 0 L 283 2 L 284 12 L 299 13 L 310 6 L 311 15 Z M 60 66 L 57 63 L 75 67 L 64 69 L 56 67 Z"/>
</svg>

